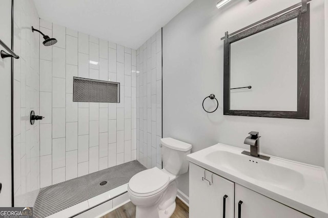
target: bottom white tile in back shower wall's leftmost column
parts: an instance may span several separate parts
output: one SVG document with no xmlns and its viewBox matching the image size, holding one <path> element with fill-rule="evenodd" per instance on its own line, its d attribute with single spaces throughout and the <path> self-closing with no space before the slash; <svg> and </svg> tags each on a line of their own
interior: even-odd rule
<svg viewBox="0 0 328 218">
<path fill-rule="evenodd" d="M 51 184 L 52 184 L 52 155 L 40 156 L 40 187 L 43 188 Z"/>
</svg>

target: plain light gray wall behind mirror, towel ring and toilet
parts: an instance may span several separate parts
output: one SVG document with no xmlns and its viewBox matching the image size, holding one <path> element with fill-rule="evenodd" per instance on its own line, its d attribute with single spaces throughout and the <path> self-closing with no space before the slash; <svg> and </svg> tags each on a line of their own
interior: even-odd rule
<svg viewBox="0 0 328 218">
<path fill-rule="evenodd" d="M 230 33 L 299 3 L 299 0 L 235 0 L 221 9 L 217 0 L 195 0 L 163 28 L 163 137 L 193 145 L 192 152 L 221 142 L 249 149 L 243 140 L 259 131 L 261 152 L 324 165 L 324 10 L 311 2 L 310 120 L 223 116 L 223 42 Z M 215 113 L 202 100 L 214 93 Z M 260 100 L 259 100 L 260 101 Z M 189 195 L 188 175 L 178 179 Z"/>
</svg>

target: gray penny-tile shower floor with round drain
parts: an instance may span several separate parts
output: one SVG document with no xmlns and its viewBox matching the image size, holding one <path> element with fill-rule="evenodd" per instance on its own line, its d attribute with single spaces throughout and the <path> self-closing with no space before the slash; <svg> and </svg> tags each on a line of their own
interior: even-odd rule
<svg viewBox="0 0 328 218">
<path fill-rule="evenodd" d="M 124 185 L 132 176 L 145 169 L 144 165 L 134 160 L 42 188 L 33 207 L 33 217 L 47 217 Z M 107 184 L 100 185 L 103 181 L 107 181 Z"/>
</svg>

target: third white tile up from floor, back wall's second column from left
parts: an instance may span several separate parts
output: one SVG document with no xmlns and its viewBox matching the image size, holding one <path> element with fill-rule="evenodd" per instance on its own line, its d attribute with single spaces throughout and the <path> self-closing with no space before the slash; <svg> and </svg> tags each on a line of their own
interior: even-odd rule
<svg viewBox="0 0 328 218">
<path fill-rule="evenodd" d="M 65 108 L 52 109 L 52 138 L 65 137 Z"/>
</svg>

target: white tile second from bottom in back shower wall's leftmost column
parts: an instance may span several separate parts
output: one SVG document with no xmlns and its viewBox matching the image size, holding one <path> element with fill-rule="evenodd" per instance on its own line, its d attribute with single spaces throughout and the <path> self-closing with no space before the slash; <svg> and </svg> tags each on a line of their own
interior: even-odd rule
<svg viewBox="0 0 328 218">
<path fill-rule="evenodd" d="M 40 124 L 40 156 L 49 155 L 52 151 L 52 125 Z"/>
</svg>

